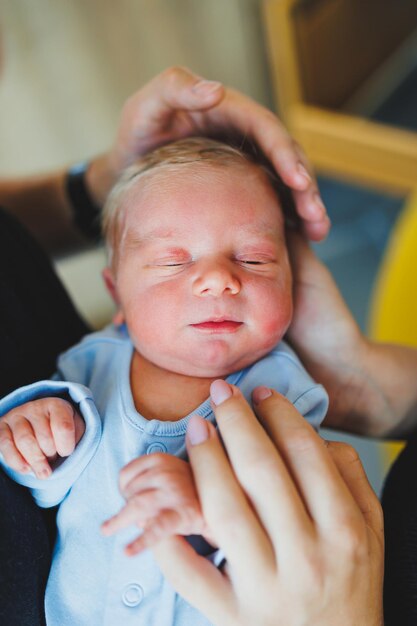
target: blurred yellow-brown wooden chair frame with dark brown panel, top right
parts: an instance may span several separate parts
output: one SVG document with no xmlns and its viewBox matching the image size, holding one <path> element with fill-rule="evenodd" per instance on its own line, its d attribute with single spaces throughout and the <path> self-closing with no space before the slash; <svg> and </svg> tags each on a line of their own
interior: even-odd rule
<svg viewBox="0 0 417 626">
<path fill-rule="evenodd" d="M 262 0 L 275 103 L 320 173 L 400 193 L 417 132 L 366 119 L 414 66 L 417 2 Z"/>
</svg>

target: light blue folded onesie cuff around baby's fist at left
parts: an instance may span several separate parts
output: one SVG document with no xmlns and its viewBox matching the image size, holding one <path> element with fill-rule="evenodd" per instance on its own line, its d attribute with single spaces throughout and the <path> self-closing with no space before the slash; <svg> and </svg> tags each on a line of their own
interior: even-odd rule
<svg viewBox="0 0 417 626">
<path fill-rule="evenodd" d="M 4 462 L 0 454 L 0 464 L 14 481 L 29 487 L 36 503 L 41 507 L 59 504 L 65 498 L 73 483 L 93 458 L 101 437 L 101 419 L 92 399 L 90 390 L 84 385 L 65 381 L 39 381 L 21 387 L 0 400 L 0 417 L 8 411 L 40 398 L 66 397 L 77 407 L 85 421 L 85 433 L 74 452 L 63 459 L 49 478 L 40 480 L 32 473 L 20 474 Z"/>
</svg>

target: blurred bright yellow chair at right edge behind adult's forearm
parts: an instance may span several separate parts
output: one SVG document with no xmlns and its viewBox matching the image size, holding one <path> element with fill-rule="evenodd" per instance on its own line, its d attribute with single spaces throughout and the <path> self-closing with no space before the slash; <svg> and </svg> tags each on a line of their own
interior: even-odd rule
<svg viewBox="0 0 417 626">
<path fill-rule="evenodd" d="M 416 173 L 417 179 L 417 173 Z M 395 225 L 372 297 L 369 335 L 417 347 L 417 188 Z M 381 446 L 386 471 L 402 444 Z"/>
</svg>

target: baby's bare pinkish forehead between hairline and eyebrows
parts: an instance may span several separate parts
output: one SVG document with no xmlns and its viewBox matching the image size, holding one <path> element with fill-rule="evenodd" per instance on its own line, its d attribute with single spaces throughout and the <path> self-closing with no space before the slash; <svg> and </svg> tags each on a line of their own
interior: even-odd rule
<svg viewBox="0 0 417 626">
<path fill-rule="evenodd" d="M 135 181 L 124 214 L 124 241 L 180 239 L 197 224 L 201 237 L 210 237 L 222 224 L 234 231 L 234 239 L 284 239 L 276 193 L 266 174 L 251 164 L 155 168 Z"/>
</svg>

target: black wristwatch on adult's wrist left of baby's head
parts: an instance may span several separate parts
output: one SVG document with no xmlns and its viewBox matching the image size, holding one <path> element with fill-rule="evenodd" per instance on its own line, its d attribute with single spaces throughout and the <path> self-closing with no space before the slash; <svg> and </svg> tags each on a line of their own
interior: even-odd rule
<svg viewBox="0 0 417 626">
<path fill-rule="evenodd" d="M 74 224 L 89 239 L 101 236 L 100 207 L 94 202 L 85 184 L 88 161 L 76 163 L 67 172 L 65 191 L 71 203 Z"/>
</svg>

